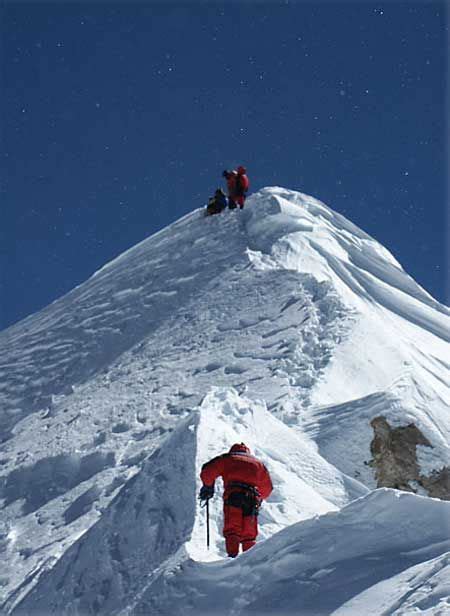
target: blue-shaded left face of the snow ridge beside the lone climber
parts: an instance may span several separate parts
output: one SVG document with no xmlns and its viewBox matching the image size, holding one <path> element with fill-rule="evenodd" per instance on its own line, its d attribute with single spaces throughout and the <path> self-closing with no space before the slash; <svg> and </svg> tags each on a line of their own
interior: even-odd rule
<svg viewBox="0 0 450 616">
<path fill-rule="evenodd" d="M 3 605 L 12 614 L 113 614 L 189 538 L 195 517 L 193 414 L 150 455 L 59 559 L 47 559 Z"/>
</svg>

